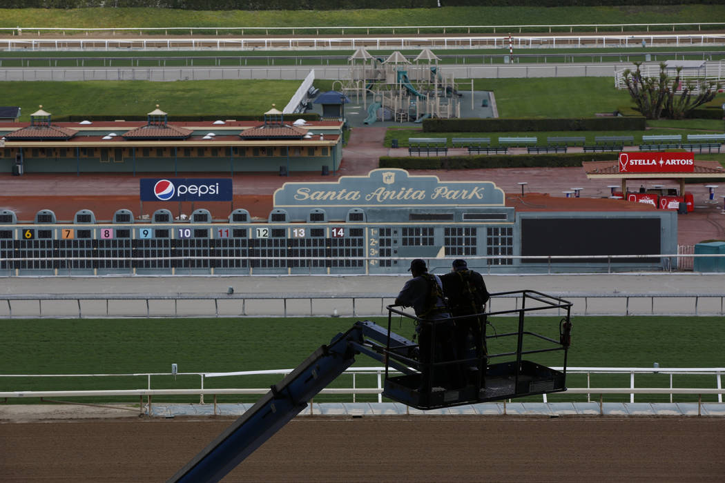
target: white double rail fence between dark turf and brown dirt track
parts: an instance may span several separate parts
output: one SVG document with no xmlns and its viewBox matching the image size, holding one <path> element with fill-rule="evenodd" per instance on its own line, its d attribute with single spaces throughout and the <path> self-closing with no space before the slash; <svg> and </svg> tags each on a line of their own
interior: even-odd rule
<svg viewBox="0 0 725 483">
<path fill-rule="evenodd" d="M 554 367 L 558 371 L 561 367 Z M 151 414 L 152 398 L 168 398 L 170 396 L 198 395 L 199 403 L 205 404 L 204 396 L 212 396 L 214 405 L 214 413 L 217 414 L 218 396 L 242 396 L 242 395 L 264 395 L 269 389 L 268 387 L 236 387 L 236 388 L 215 388 L 209 389 L 204 387 L 204 382 L 209 378 L 218 377 L 251 377 L 251 376 L 279 376 L 285 377 L 293 369 L 273 369 L 265 371 L 235 371 L 235 372 L 167 372 L 167 373 L 136 373 L 136 374 L 0 374 L 2 385 L 12 384 L 12 379 L 50 379 L 50 378 L 120 378 L 120 377 L 139 377 L 145 378 L 146 387 L 130 390 L 32 390 L 32 391 L 2 391 L 0 398 L 5 402 L 14 399 L 40 398 L 41 400 L 60 402 L 56 398 L 104 398 L 106 404 L 119 400 L 118 398 L 134 397 L 139 398 L 139 411 L 143 414 Z M 397 374 L 395 371 L 391 373 Z M 665 368 L 665 367 L 569 367 L 567 369 L 568 376 L 572 374 L 586 374 L 587 384 L 584 387 L 568 387 L 564 395 L 586 395 L 586 402 L 592 402 L 592 396 L 596 399 L 594 402 L 600 403 L 600 411 L 605 395 L 627 395 L 629 394 L 629 402 L 634 403 L 635 395 L 669 395 L 670 403 L 674 402 L 674 395 L 697 395 L 698 408 L 702 404 L 703 395 L 716 395 L 717 402 L 722 403 L 723 389 L 722 376 L 725 373 L 725 367 L 702 368 Z M 355 403 L 358 395 L 377 395 L 377 402 L 383 402 L 383 384 L 384 384 L 384 367 L 352 367 L 344 372 L 342 377 L 347 377 L 350 381 L 349 387 L 328 387 L 323 389 L 320 394 L 323 395 L 351 395 L 352 402 Z M 594 387 L 591 385 L 592 376 L 601 374 L 629 374 L 629 387 Z M 646 387 L 637 387 L 635 385 L 635 375 L 645 374 L 664 374 L 668 376 L 668 386 L 651 387 L 651 380 L 647 380 Z M 674 376 L 711 376 L 713 385 L 711 387 L 685 387 L 680 385 L 674 386 Z M 191 376 L 199 377 L 199 387 L 183 388 L 183 389 L 153 389 L 153 377 L 165 377 L 168 381 L 170 377 Z M 360 377 L 368 384 L 363 382 L 360 385 Z M 370 379 L 375 382 L 369 384 Z M 569 378 L 571 380 L 571 377 Z M 11 382 L 7 383 L 6 381 Z M 680 379 L 682 380 L 682 379 Z M 78 385 L 78 382 L 75 382 Z M 144 402 L 144 397 L 146 402 Z M 547 403 L 547 395 L 542 395 L 542 400 Z M 68 401 L 62 401 L 68 402 Z M 640 400 L 640 402 L 642 402 Z M 699 411 L 698 411 L 699 413 Z"/>
</svg>

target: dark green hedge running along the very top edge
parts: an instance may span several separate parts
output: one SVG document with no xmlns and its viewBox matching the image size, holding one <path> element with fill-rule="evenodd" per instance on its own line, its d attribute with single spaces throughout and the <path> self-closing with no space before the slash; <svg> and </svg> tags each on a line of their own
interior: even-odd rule
<svg viewBox="0 0 725 483">
<path fill-rule="evenodd" d="M 617 7 L 720 4 L 721 0 L 441 0 L 443 7 Z M 149 7 L 185 10 L 354 10 L 437 7 L 437 0 L 3 0 L 6 9 Z"/>
</svg>

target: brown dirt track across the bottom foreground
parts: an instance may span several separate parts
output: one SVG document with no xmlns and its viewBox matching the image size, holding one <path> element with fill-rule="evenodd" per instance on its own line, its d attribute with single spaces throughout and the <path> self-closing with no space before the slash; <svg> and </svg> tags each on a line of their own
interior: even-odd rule
<svg viewBox="0 0 725 483">
<path fill-rule="evenodd" d="M 165 481 L 231 418 L 0 424 L 3 482 Z M 725 419 L 298 417 L 228 482 L 701 482 Z"/>
</svg>

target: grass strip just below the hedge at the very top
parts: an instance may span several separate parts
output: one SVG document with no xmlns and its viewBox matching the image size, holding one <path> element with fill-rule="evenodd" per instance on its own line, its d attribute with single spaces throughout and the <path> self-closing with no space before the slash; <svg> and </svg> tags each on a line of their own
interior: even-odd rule
<svg viewBox="0 0 725 483">
<path fill-rule="evenodd" d="M 368 25 L 561 25 L 712 22 L 725 18 L 725 5 L 621 7 L 442 7 L 431 9 L 362 9 L 257 12 L 183 9 L 3 9 L 0 27 L 164 28 L 164 27 L 336 27 Z M 312 19 L 312 20 L 311 20 Z M 703 28 L 708 28 L 703 26 Z M 631 30 L 630 30 L 631 29 Z M 671 30 L 663 25 L 661 30 Z M 684 29 L 684 28 L 683 28 Z M 439 28 L 431 29 L 439 31 Z M 483 29 L 479 29 L 483 30 Z M 576 28 L 576 31 L 592 30 Z M 600 29 L 603 31 L 604 29 Z M 618 32 L 620 28 L 611 28 Z M 642 27 L 627 28 L 643 30 Z M 653 28 L 650 28 L 650 31 Z M 692 27 L 690 27 L 692 30 Z M 453 30 L 448 28 L 447 32 Z M 466 29 L 460 29 L 465 32 Z M 485 31 L 492 32 L 492 28 Z M 525 31 L 548 31 L 527 28 Z M 560 31 L 568 32 L 569 28 Z M 415 30 L 413 30 L 415 32 Z M 501 33 L 501 29 L 498 30 Z M 163 33 L 163 30 L 160 30 Z M 214 33 L 211 30 L 210 33 Z M 271 33 L 271 32 L 270 32 Z M 323 33 L 321 31 L 320 33 Z M 411 31 L 407 31 L 411 33 Z M 186 33 L 184 33 L 186 34 Z"/>
</svg>

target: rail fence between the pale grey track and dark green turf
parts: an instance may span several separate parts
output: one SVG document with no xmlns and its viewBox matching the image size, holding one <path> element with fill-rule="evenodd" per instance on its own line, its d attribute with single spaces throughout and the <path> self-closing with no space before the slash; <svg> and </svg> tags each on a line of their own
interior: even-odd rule
<svg viewBox="0 0 725 483">
<path fill-rule="evenodd" d="M 723 316 L 725 293 L 551 293 L 573 316 Z M 387 316 L 394 293 L 23 293 L 0 294 L 0 316 L 27 318 Z M 518 310 L 515 294 L 489 311 Z M 563 313 L 555 316 L 563 316 Z"/>
</svg>

